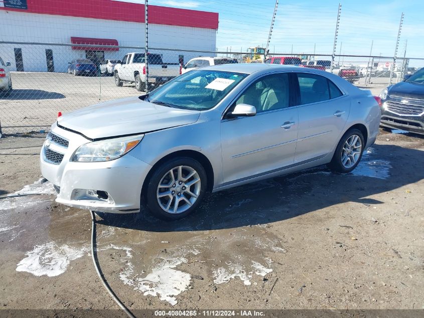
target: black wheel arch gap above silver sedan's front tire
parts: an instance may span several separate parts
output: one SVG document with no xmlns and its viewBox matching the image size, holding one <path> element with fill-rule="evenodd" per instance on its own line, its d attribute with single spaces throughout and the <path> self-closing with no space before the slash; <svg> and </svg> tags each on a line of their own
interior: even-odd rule
<svg viewBox="0 0 424 318">
<path fill-rule="evenodd" d="M 205 169 L 206 176 L 207 176 L 207 179 L 208 179 L 207 190 L 212 191 L 213 184 L 214 184 L 214 171 L 213 171 L 212 164 L 209 161 L 209 159 L 204 154 L 202 154 L 201 152 L 196 151 L 196 150 L 178 150 L 178 151 L 172 152 L 172 153 L 162 157 L 152 166 L 152 168 L 149 170 L 149 173 L 147 174 L 147 176 L 146 176 L 146 178 L 143 182 L 142 196 L 146 193 L 146 187 L 147 187 L 149 180 L 152 177 L 152 174 L 154 173 L 155 169 L 159 165 L 161 165 L 163 162 L 170 160 L 170 159 L 173 159 L 173 158 L 179 158 L 179 157 L 189 157 L 189 158 L 193 158 L 193 159 L 199 161 L 199 163 Z"/>
</svg>

